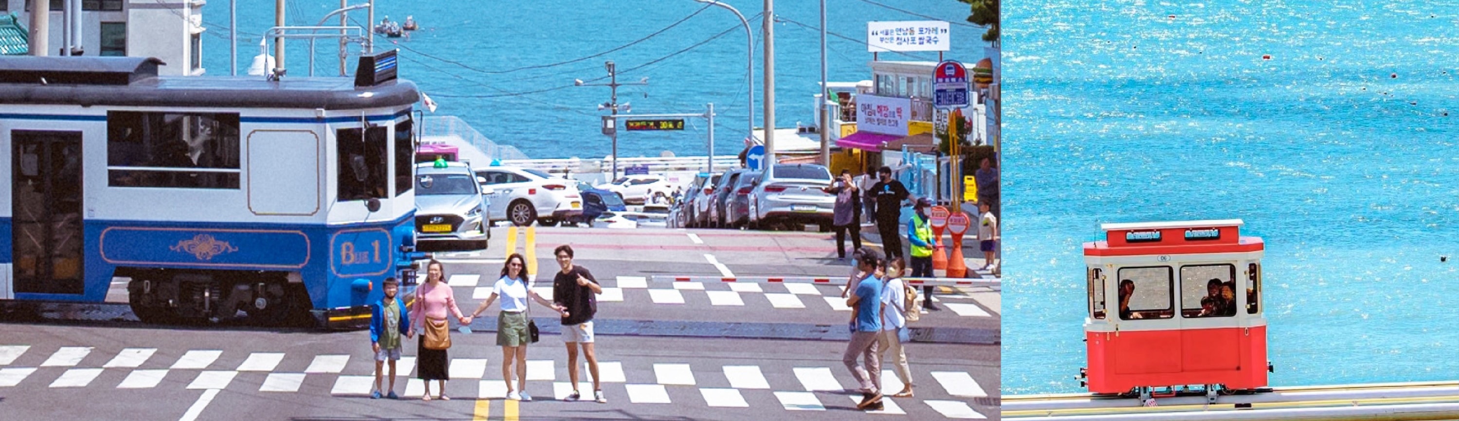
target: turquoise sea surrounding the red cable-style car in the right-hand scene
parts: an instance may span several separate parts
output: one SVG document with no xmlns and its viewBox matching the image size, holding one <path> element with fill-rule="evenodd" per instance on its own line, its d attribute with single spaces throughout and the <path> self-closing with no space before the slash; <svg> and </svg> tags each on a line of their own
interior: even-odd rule
<svg viewBox="0 0 1459 421">
<path fill-rule="evenodd" d="M 1005 395 L 1083 392 L 1100 223 L 1186 219 L 1266 240 L 1272 385 L 1459 379 L 1459 4 L 1005 7 Z"/>
</svg>

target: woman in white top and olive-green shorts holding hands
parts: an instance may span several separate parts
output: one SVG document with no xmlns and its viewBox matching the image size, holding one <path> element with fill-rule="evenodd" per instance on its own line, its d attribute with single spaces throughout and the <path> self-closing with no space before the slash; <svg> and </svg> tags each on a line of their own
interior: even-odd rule
<svg viewBox="0 0 1459 421">
<path fill-rule="evenodd" d="M 492 306 L 492 302 L 496 302 L 498 296 L 502 297 L 502 312 L 496 316 L 496 344 L 502 347 L 502 379 L 506 382 L 506 399 L 531 401 L 533 396 L 527 395 L 527 344 L 531 342 L 527 332 L 527 299 L 531 297 L 559 315 L 562 307 L 533 291 L 527 275 L 527 258 L 522 258 L 521 253 L 512 253 L 506 258 L 502 278 L 496 280 L 492 287 L 492 296 L 486 297 L 486 302 L 481 302 L 481 306 L 476 307 L 471 316 L 480 316 Z M 512 360 L 516 361 L 515 389 L 512 387 Z"/>
</svg>

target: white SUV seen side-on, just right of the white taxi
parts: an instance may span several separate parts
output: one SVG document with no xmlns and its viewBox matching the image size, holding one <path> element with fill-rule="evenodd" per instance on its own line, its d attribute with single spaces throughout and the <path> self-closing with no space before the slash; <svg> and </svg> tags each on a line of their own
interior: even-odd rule
<svg viewBox="0 0 1459 421">
<path fill-rule="evenodd" d="M 490 200 L 492 220 L 509 220 L 515 226 L 556 226 L 559 221 L 582 216 L 582 195 L 578 182 L 550 173 L 511 166 L 489 166 L 476 170 L 481 194 Z"/>
</svg>

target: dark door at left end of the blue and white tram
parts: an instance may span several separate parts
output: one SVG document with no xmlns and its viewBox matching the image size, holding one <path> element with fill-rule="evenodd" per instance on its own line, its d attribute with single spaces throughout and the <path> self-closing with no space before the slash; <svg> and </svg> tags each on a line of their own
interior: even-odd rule
<svg viewBox="0 0 1459 421">
<path fill-rule="evenodd" d="M 82 294 L 82 133 L 10 131 L 15 293 Z"/>
</svg>

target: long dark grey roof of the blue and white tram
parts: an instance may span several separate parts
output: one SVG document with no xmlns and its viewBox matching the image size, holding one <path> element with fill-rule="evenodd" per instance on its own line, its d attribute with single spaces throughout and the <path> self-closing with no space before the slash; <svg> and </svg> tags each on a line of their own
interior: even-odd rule
<svg viewBox="0 0 1459 421">
<path fill-rule="evenodd" d="M 0 60 L 0 103 L 363 109 L 420 101 L 409 80 L 356 87 L 353 77 L 158 76 L 158 66 L 143 57 L 12 57 Z"/>
</svg>

